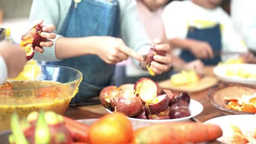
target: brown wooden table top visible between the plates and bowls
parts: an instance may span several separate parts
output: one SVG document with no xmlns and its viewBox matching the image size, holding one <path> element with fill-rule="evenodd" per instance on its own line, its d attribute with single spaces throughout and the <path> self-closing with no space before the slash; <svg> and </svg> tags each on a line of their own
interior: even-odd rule
<svg viewBox="0 0 256 144">
<path fill-rule="evenodd" d="M 212 68 L 213 67 L 205 67 L 205 73 L 213 75 Z M 209 89 L 205 89 L 204 91 L 189 93 L 192 99 L 195 99 L 204 106 L 204 110 L 197 117 L 201 122 L 222 116 L 222 113 L 208 102 L 206 98 L 208 90 Z M 71 117 L 72 119 L 92 119 L 99 118 L 106 113 L 107 111 L 102 105 L 91 105 L 84 107 L 69 107 L 64 115 Z"/>
</svg>

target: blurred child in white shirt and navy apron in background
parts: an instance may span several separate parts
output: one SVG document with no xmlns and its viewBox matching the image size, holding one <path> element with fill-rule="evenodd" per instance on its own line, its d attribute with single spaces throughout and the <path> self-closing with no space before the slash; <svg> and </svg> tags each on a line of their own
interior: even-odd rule
<svg viewBox="0 0 256 144">
<path fill-rule="evenodd" d="M 205 65 L 216 65 L 230 57 L 241 56 L 245 62 L 254 60 L 228 14 L 219 6 L 221 3 L 222 0 L 184 0 L 172 1 L 165 7 L 162 18 L 168 42 L 179 48 L 176 54 L 184 61 L 201 59 Z"/>
</svg>

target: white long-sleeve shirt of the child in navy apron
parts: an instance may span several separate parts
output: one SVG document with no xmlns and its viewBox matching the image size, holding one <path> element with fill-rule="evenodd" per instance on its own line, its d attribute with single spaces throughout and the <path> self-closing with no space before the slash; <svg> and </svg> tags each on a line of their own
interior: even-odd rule
<svg viewBox="0 0 256 144">
<path fill-rule="evenodd" d="M 220 24 L 222 51 L 248 51 L 234 30 L 228 14 L 221 7 L 206 9 L 191 0 L 173 1 L 165 7 L 162 18 L 167 39 L 186 39 L 190 26 L 207 28 Z M 228 58 L 229 56 L 222 56 L 223 61 Z"/>
</svg>

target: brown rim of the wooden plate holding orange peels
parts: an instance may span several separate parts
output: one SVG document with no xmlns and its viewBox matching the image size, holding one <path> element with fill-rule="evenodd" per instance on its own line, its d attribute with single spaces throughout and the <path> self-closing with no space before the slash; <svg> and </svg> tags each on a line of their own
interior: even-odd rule
<svg viewBox="0 0 256 144">
<path fill-rule="evenodd" d="M 213 99 L 213 95 L 216 93 L 216 91 L 219 91 L 220 89 L 224 89 L 230 86 L 243 86 L 243 87 L 247 87 L 247 88 L 253 88 L 256 89 L 256 86 L 253 85 L 246 85 L 243 83 L 234 83 L 234 82 L 220 82 L 217 85 L 214 85 L 211 87 L 211 89 L 207 92 L 206 98 L 207 100 L 210 102 L 211 105 L 213 105 L 213 107 L 217 108 L 218 110 L 221 110 L 225 113 L 229 113 L 229 114 L 255 114 L 255 113 L 247 113 L 244 111 L 237 111 L 237 110 L 231 110 L 228 108 L 225 108 L 219 104 L 217 104 L 214 99 Z"/>
</svg>

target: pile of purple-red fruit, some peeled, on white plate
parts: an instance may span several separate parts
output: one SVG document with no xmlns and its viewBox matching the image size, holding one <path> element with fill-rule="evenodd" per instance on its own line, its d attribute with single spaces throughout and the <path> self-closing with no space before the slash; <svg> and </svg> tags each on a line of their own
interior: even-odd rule
<svg viewBox="0 0 256 144">
<path fill-rule="evenodd" d="M 137 119 L 177 119 L 191 115 L 188 93 L 174 96 L 167 89 L 158 93 L 158 85 L 148 78 L 139 79 L 135 85 L 108 86 L 101 91 L 100 101 L 111 111 Z"/>
</svg>

